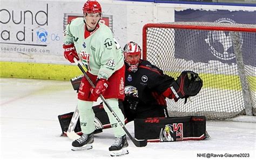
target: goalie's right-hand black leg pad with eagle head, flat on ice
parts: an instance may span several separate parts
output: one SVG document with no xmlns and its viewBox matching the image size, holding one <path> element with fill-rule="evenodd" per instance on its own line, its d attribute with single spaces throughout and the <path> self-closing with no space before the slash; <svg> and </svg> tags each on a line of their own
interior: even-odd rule
<svg viewBox="0 0 256 160">
<path fill-rule="evenodd" d="M 134 120 L 134 135 L 147 142 L 204 140 L 205 116 L 167 117 Z"/>
</svg>

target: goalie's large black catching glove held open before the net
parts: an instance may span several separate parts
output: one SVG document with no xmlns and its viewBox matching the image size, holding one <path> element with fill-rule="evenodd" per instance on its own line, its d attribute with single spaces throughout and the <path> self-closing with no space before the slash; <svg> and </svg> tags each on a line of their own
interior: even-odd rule
<svg viewBox="0 0 256 160">
<path fill-rule="evenodd" d="M 203 80 L 197 73 L 192 71 L 183 71 L 178 79 L 174 81 L 170 88 L 177 99 L 184 99 L 185 103 L 188 97 L 195 96 L 203 86 Z"/>
</svg>

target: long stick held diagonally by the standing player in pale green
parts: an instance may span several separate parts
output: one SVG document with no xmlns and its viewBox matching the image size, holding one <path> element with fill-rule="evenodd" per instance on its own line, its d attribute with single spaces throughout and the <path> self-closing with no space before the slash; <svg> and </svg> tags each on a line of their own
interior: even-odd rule
<svg viewBox="0 0 256 160">
<path fill-rule="evenodd" d="M 79 62 L 76 60 L 76 58 L 74 58 L 74 61 L 76 62 L 76 65 L 79 67 L 79 69 L 83 72 L 85 78 L 87 79 L 87 81 L 89 82 L 89 84 L 95 88 L 95 85 L 93 84 L 93 82 L 91 81 L 91 79 L 89 78 L 89 76 L 86 74 L 86 72 L 84 71 L 84 68 L 82 67 L 82 65 L 79 64 Z M 102 99 L 103 103 L 105 103 L 106 107 L 110 110 L 110 112 L 112 113 L 112 115 L 114 116 L 114 118 L 117 120 L 117 122 L 119 123 L 119 125 L 124 129 L 125 133 L 130 137 L 131 141 L 133 142 L 134 145 L 136 145 L 136 147 L 145 147 L 147 145 L 147 140 L 136 140 L 135 138 L 132 137 L 132 135 L 129 133 L 129 131 L 125 128 L 124 124 L 122 123 L 122 121 L 119 119 L 119 117 L 117 116 L 116 113 L 114 113 L 113 109 L 110 107 L 109 103 L 107 103 L 107 101 L 105 100 L 104 96 L 102 94 L 99 95 L 100 99 Z"/>
</svg>

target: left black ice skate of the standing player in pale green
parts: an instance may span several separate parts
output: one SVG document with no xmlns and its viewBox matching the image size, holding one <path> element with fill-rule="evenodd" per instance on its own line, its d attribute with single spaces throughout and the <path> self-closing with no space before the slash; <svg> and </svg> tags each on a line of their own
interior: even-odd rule
<svg viewBox="0 0 256 160">
<path fill-rule="evenodd" d="M 93 141 L 94 141 L 93 133 L 89 135 L 83 134 L 80 138 L 72 142 L 71 150 L 76 151 L 76 150 L 92 149 Z"/>
</svg>

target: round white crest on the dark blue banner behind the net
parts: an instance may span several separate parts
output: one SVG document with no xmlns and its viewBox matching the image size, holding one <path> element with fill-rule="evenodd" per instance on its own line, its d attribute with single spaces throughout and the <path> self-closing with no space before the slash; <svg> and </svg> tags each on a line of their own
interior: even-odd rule
<svg viewBox="0 0 256 160">
<path fill-rule="evenodd" d="M 236 23 L 233 19 L 230 18 L 219 18 L 214 21 L 215 23 Z M 239 41 L 242 46 L 242 35 L 238 33 Z M 206 43 L 210 47 L 211 53 L 222 60 L 230 60 L 235 58 L 233 42 L 231 39 L 231 32 L 228 31 L 209 31 L 207 38 L 205 39 Z M 240 47 L 241 47 L 240 46 Z"/>
</svg>

